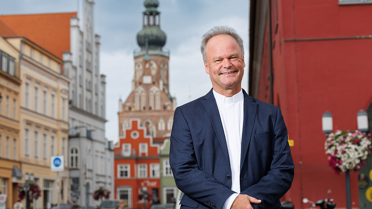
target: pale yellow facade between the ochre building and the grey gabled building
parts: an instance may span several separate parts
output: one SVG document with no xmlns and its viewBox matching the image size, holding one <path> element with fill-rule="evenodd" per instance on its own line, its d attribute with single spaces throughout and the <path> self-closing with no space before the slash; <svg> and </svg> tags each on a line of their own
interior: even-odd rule
<svg viewBox="0 0 372 209">
<path fill-rule="evenodd" d="M 24 37 L 7 37 L 20 51 L 19 160 L 21 171 L 33 174 L 41 197 L 33 209 L 68 200 L 68 85 L 63 61 Z M 50 157 L 64 155 L 65 170 L 50 171 Z M 24 179 L 23 179 L 24 181 Z M 23 201 L 23 203 L 25 203 Z"/>
</svg>

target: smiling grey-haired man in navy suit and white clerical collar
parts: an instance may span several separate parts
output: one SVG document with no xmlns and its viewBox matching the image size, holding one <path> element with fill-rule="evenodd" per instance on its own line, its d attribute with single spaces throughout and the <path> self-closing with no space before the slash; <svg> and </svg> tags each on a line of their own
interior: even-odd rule
<svg viewBox="0 0 372 209">
<path fill-rule="evenodd" d="M 280 109 L 241 89 L 244 49 L 234 29 L 214 27 L 202 38 L 213 89 L 176 108 L 170 138 L 181 209 L 279 208 L 294 176 Z"/>
</svg>

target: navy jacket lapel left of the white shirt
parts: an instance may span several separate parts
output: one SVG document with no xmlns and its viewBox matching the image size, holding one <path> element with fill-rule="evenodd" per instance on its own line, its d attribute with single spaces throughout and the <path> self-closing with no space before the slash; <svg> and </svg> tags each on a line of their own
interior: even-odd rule
<svg viewBox="0 0 372 209">
<path fill-rule="evenodd" d="M 209 91 L 208 94 L 204 96 L 205 100 L 202 100 L 204 108 L 206 109 L 209 119 L 211 119 L 214 131 L 216 132 L 219 144 L 221 144 L 222 150 L 230 164 L 229 153 L 227 150 L 227 143 L 225 138 L 224 128 L 222 126 L 221 117 L 219 116 L 219 111 L 217 107 L 216 100 L 213 95 L 213 91 Z"/>
</svg>

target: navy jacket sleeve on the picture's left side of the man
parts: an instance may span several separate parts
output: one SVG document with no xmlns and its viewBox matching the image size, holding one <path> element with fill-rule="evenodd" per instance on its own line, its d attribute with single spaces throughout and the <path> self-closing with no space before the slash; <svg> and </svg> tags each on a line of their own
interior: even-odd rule
<svg viewBox="0 0 372 209">
<path fill-rule="evenodd" d="M 191 201 L 221 209 L 225 200 L 234 193 L 221 181 L 199 169 L 190 128 L 180 107 L 174 111 L 169 162 L 177 187 L 192 198 Z"/>
</svg>

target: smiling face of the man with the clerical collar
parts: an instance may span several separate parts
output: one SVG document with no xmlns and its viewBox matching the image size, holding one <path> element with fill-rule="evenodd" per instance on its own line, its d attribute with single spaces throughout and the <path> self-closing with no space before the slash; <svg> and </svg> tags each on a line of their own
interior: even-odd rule
<svg viewBox="0 0 372 209">
<path fill-rule="evenodd" d="M 214 36 L 205 51 L 205 72 L 211 78 L 213 89 L 225 96 L 238 93 L 246 66 L 238 42 L 230 35 Z"/>
</svg>

